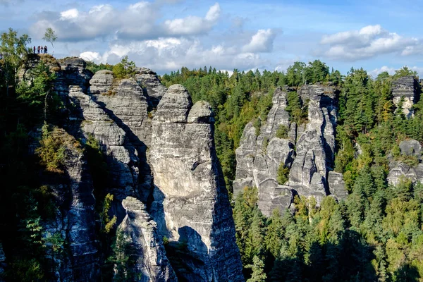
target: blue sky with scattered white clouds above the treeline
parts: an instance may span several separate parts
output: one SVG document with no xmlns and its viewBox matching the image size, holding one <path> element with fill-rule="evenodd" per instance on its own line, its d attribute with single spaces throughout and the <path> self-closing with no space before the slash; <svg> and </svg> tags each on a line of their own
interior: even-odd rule
<svg viewBox="0 0 423 282">
<path fill-rule="evenodd" d="M 114 64 L 128 56 L 159 74 L 286 71 L 319 59 L 343 74 L 408 66 L 422 77 L 422 13 L 416 0 L 0 0 L 0 32 L 12 27 L 44 46 L 51 27 L 56 57 Z"/>
</svg>

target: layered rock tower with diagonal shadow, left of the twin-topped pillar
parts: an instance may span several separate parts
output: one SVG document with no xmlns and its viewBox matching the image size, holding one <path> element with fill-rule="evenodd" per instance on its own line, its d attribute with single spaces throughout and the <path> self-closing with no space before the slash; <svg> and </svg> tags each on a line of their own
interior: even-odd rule
<svg viewBox="0 0 423 282">
<path fill-rule="evenodd" d="M 147 164 L 147 146 L 151 143 L 149 97 L 136 80 L 114 80 L 109 71 L 99 71 L 90 80 L 90 94 L 106 114 L 125 132 L 125 145 L 137 161 L 135 185 L 140 200 L 147 202 L 152 188 L 152 177 Z M 133 173 L 134 174 L 134 173 Z M 140 177 L 138 177 L 140 176 Z M 127 195 L 123 195 L 122 199 Z"/>
</svg>

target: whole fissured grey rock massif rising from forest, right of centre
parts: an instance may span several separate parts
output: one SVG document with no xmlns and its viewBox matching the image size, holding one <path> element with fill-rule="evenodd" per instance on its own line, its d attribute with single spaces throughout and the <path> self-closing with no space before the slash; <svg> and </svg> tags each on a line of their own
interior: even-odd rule
<svg viewBox="0 0 423 282">
<path fill-rule="evenodd" d="M 275 208 L 283 210 L 290 207 L 296 194 L 314 196 L 318 202 L 331 193 L 340 198 L 346 195 L 339 179 L 333 179 L 333 192 L 328 183 L 335 151 L 336 89 L 322 85 L 300 87 L 298 95 L 308 106 L 308 121 L 302 125 L 290 123 L 286 111 L 288 91 L 292 90 L 275 90 L 273 106 L 260 128 L 260 134 L 256 136 L 254 126 L 248 123 L 240 147 L 235 151 L 234 194 L 245 186 L 256 186 L 259 189 L 259 209 L 267 216 Z M 288 130 L 285 139 L 276 137 L 281 126 Z M 289 168 L 290 172 L 288 181 L 278 184 L 276 180 L 281 165 Z"/>
</svg>

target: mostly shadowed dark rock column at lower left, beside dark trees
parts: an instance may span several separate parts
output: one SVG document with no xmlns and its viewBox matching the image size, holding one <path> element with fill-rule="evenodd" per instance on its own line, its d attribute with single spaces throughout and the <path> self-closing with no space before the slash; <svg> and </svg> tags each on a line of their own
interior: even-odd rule
<svg viewBox="0 0 423 282">
<path fill-rule="evenodd" d="M 92 178 L 78 141 L 63 129 L 56 128 L 53 134 L 65 145 L 65 161 L 59 177 L 44 179 L 57 206 L 54 218 L 43 222 L 46 257 L 54 266 L 52 275 L 57 281 L 96 281 L 99 278 L 99 250 Z M 61 238 L 67 252 L 61 246 L 61 252 L 52 255 L 51 236 Z"/>
</svg>

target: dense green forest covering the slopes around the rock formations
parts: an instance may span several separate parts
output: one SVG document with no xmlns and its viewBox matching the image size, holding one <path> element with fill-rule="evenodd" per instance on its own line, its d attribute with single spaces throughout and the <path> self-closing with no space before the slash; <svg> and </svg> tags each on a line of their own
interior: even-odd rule
<svg viewBox="0 0 423 282">
<path fill-rule="evenodd" d="M 40 185 L 42 174 L 54 176 L 60 170 L 68 140 L 54 125 L 60 121 L 60 99 L 52 91 L 54 73 L 40 63 L 32 70 L 30 85 L 18 83 L 18 68 L 28 58 L 26 35 L 13 30 L 1 35 L 0 53 L 0 240 L 4 245 L 11 281 L 43 281 L 51 261 L 43 253 L 60 255 L 63 239 L 51 234 L 42 237 L 40 221 L 54 212 L 47 188 Z M 116 77 L 131 75 L 134 64 L 124 58 L 120 64 L 88 63 L 93 72 L 110 69 Z M 245 278 L 253 281 L 422 281 L 423 279 L 423 185 L 403 179 L 396 186 L 386 182 L 388 156 L 416 165 L 404 157 L 398 144 L 407 137 L 423 143 L 423 99 L 415 104 L 414 118 L 406 118 L 392 102 L 391 82 L 404 75 L 417 75 L 408 68 L 395 75 L 381 73 L 372 78 L 363 69 L 345 75 L 317 60 L 296 62 L 284 72 L 238 71 L 232 75 L 214 68 L 181 68 L 162 75 L 167 87 L 187 87 L 193 102 L 205 100 L 216 114 L 215 143 L 226 186 L 231 194 L 235 178 L 235 149 L 245 125 L 254 121 L 259 131 L 271 108 L 278 86 L 299 87 L 316 82 L 340 90 L 335 170 L 343 173 L 347 200 L 326 197 L 319 206 L 313 198 L 295 198 L 295 210 L 266 218 L 257 208 L 257 188 L 245 189 L 234 197 L 233 217 Z M 298 94 L 288 94 L 290 118 L 307 122 L 307 106 Z M 43 126 L 44 124 L 44 126 Z M 29 154 L 29 135 L 42 128 L 40 145 Z M 281 133 L 283 134 L 283 133 Z M 360 145 L 362 154 L 357 155 Z M 94 178 L 102 173 L 95 140 L 73 145 L 87 152 L 96 164 Z M 98 165 L 100 164 L 100 165 Z M 93 166 L 94 169 L 94 166 Z M 101 186 L 97 177 L 97 187 Z M 95 179 L 94 179 L 95 185 Z M 94 191 L 95 192 L 95 191 Z M 109 198 L 99 201 L 101 239 L 111 249 L 107 214 Z M 9 241 L 10 242 L 10 241 Z"/>
</svg>

